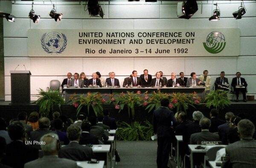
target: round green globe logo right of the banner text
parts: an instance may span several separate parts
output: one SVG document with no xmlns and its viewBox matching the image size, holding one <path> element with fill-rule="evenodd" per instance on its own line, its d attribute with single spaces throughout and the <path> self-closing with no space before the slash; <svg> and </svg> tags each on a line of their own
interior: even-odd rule
<svg viewBox="0 0 256 168">
<path fill-rule="evenodd" d="M 225 37 L 219 31 L 212 31 L 208 34 L 204 48 L 212 54 L 220 53 L 226 46 Z"/>
</svg>

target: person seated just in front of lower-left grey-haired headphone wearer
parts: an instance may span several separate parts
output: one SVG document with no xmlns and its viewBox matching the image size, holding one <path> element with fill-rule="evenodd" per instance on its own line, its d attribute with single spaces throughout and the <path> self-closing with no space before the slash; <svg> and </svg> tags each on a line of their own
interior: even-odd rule
<svg viewBox="0 0 256 168">
<path fill-rule="evenodd" d="M 44 135 L 44 134 L 49 134 L 49 133 L 53 133 L 52 131 L 49 130 L 50 127 L 50 120 L 47 117 L 43 117 L 39 119 L 39 128 L 35 131 L 32 131 L 30 133 L 30 140 L 31 141 L 40 141 L 40 138 Z M 40 149 L 40 145 L 39 144 L 33 144 L 32 146 Z"/>
</svg>

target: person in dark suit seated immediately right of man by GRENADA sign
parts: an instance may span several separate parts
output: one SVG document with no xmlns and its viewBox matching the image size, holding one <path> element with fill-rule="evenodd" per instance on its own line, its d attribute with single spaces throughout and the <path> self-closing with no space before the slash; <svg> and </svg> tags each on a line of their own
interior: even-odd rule
<svg viewBox="0 0 256 168">
<path fill-rule="evenodd" d="M 218 126 L 218 134 L 223 145 L 227 145 L 227 134 L 229 132 L 230 119 L 234 116 L 233 112 L 227 112 L 225 115 L 226 123 Z"/>
</svg>

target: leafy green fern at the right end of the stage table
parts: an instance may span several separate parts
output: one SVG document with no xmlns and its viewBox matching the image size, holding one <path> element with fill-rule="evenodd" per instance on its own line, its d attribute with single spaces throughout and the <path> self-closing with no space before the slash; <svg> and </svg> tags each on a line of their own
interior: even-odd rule
<svg viewBox="0 0 256 168">
<path fill-rule="evenodd" d="M 231 104 L 231 101 L 227 97 L 228 93 L 229 91 L 212 90 L 206 95 L 204 102 L 208 108 L 214 107 L 215 109 L 222 110 Z"/>
</svg>

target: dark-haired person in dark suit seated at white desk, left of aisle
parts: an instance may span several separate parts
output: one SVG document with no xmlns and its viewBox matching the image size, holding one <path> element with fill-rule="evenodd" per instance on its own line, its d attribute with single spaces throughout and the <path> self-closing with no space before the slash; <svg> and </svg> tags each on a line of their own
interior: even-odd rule
<svg viewBox="0 0 256 168">
<path fill-rule="evenodd" d="M 80 145 L 97 145 L 99 144 L 99 139 L 96 136 L 91 135 L 90 132 L 91 125 L 88 122 L 83 122 L 81 125 L 82 134 L 80 137 L 79 144 Z"/>
</svg>

